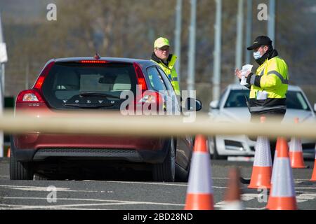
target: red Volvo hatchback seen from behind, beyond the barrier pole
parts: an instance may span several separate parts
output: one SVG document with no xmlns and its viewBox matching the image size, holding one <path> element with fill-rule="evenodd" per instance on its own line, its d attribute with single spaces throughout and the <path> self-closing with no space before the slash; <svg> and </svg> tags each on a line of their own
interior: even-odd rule
<svg viewBox="0 0 316 224">
<path fill-rule="evenodd" d="M 67 117 L 74 112 L 86 116 L 92 111 L 103 116 L 120 113 L 126 101 L 121 99 L 124 91 L 136 96 L 135 104 L 154 100 L 164 106 L 173 102 L 173 111 L 190 111 L 189 106 L 181 108 L 158 64 L 97 55 L 49 60 L 32 89 L 18 94 L 15 113 L 39 118 Z M 201 102 L 190 100 L 195 102 L 195 111 L 202 108 Z M 102 173 L 107 167 L 131 167 L 152 170 L 154 181 L 186 180 L 192 147 L 193 138 L 189 136 L 15 134 L 11 136 L 10 179 L 85 179 L 87 170 Z"/>
</svg>

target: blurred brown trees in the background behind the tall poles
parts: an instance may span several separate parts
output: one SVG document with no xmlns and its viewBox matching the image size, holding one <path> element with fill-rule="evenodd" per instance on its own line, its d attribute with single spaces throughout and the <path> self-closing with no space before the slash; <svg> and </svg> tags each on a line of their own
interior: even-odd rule
<svg viewBox="0 0 316 224">
<path fill-rule="evenodd" d="M 244 1 L 246 22 L 246 1 Z M 267 22 L 256 19 L 259 3 L 253 1 L 253 34 L 266 34 Z M 46 20 L 46 4 L 36 20 L 2 18 L 8 48 L 6 95 L 31 87 L 45 62 L 53 57 L 93 56 L 150 59 L 153 42 L 165 36 L 174 46 L 176 0 L 67 0 L 55 1 L 57 21 Z M 215 1 L 197 1 L 196 88 L 204 105 L 211 101 Z M 276 48 L 289 65 L 290 83 L 306 85 L 316 100 L 315 13 L 312 1 L 277 1 Z M 14 12 L 13 12 L 14 13 Z M 181 88 L 186 89 L 190 1 L 183 0 L 181 34 Z M 234 81 L 237 1 L 223 0 L 222 86 Z M 245 26 L 244 26 L 245 27 Z M 244 28 L 244 36 L 246 34 Z M 244 37 L 245 38 L 245 37 Z M 243 46 L 246 52 L 246 45 Z M 171 48 L 172 49 L 172 48 Z M 256 62 L 252 61 L 256 66 Z M 27 81 L 26 81 L 27 80 Z M 303 87 L 303 86 L 302 86 Z M 310 92 L 310 93 L 309 93 Z M 208 107 L 204 106 L 204 109 Z"/>
</svg>

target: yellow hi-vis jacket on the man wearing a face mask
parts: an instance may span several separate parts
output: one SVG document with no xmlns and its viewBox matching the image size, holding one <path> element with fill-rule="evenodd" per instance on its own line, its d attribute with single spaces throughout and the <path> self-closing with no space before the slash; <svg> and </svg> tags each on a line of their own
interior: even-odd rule
<svg viewBox="0 0 316 224">
<path fill-rule="evenodd" d="M 249 74 L 247 83 L 251 85 L 250 113 L 275 110 L 284 110 L 285 112 L 289 76 L 284 59 L 278 56 L 265 59 L 265 62 L 258 67 L 256 74 Z"/>
</svg>

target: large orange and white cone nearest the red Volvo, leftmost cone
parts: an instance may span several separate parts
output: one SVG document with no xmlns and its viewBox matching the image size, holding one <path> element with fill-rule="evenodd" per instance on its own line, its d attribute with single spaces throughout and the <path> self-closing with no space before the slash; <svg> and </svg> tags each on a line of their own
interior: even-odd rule
<svg viewBox="0 0 316 224">
<path fill-rule="evenodd" d="M 197 135 L 190 167 L 185 210 L 213 210 L 213 181 L 211 160 L 206 148 L 206 138 Z"/>
</svg>

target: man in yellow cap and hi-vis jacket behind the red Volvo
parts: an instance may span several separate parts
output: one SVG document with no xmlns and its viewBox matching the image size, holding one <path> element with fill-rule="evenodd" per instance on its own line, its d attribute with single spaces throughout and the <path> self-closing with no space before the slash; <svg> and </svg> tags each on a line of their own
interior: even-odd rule
<svg viewBox="0 0 316 224">
<path fill-rule="evenodd" d="M 178 74 L 174 65 L 176 64 L 176 55 L 170 54 L 170 44 L 167 38 L 159 37 L 154 41 L 154 52 L 152 52 L 152 61 L 157 62 L 168 76 L 176 94 L 180 95 L 178 83 Z"/>
</svg>

